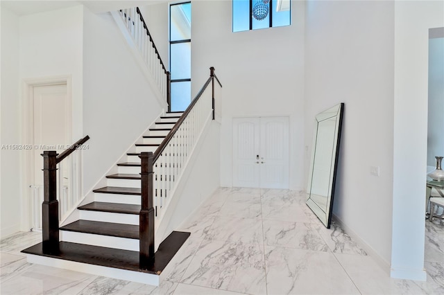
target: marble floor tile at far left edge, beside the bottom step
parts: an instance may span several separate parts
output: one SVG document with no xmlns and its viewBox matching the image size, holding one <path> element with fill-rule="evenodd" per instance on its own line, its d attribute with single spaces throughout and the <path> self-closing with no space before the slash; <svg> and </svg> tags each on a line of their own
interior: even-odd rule
<svg viewBox="0 0 444 295">
<path fill-rule="evenodd" d="M 40 242 L 42 242 L 42 233 L 37 231 L 20 231 L 1 240 L 0 249 L 2 253 L 26 256 L 24 253 L 20 253 L 20 251 Z"/>
</svg>

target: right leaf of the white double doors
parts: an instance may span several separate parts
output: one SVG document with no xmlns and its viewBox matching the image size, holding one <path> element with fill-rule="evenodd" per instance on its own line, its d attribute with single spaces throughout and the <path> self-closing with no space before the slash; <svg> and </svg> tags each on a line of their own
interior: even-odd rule
<svg viewBox="0 0 444 295">
<path fill-rule="evenodd" d="M 289 118 L 261 118 L 260 187 L 289 188 Z"/>
</svg>

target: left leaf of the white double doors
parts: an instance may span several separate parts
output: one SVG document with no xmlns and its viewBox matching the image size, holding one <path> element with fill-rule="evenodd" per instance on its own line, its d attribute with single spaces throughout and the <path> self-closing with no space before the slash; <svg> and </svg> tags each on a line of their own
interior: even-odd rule
<svg viewBox="0 0 444 295">
<path fill-rule="evenodd" d="M 233 121 L 233 186 L 259 187 L 259 118 Z"/>
</svg>

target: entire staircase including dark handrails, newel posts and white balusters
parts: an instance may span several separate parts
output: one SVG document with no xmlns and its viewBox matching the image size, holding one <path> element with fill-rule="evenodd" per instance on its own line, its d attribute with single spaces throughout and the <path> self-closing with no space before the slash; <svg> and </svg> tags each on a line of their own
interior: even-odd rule
<svg viewBox="0 0 444 295">
<path fill-rule="evenodd" d="M 120 10 L 114 15 L 116 21 L 123 21 L 124 31 L 130 33 L 139 49 L 141 64 L 151 70 L 148 80 L 153 80 L 153 87 L 159 87 L 164 96 L 162 99 L 170 102 L 170 75 L 139 9 Z M 92 190 L 93 195 L 80 196 L 77 207 L 73 208 L 57 193 L 63 177 L 56 171 L 62 171 L 63 159 L 89 136 L 61 154 L 44 151 L 42 242 L 22 251 L 28 262 L 159 285 L 164 267 L 190 235 L 171 232 L 177 224 L 170 228 L 169 222 L 177 212 L 182 215 L 176 216 L 183 216 L 183 211 L 176 211 L 176 207 L 181 197 L 180 184 L 186 182 L 185 170 L 197 157 L 196 147 L 210 129 L 211 121 L 220 120 L 216 108 L 221 109 L 221 87 L 211 67 L 210 78 L 189 107 L 183 113 L 167 112 L 160 116 L 128 150 L 126 161 L 117 163 L 114 172 L 105 177 L 107 186 Z M 79 179 L 82 178 L 80 171 Z M 63 220 L 76 221 L 59 226 L 63 221 L 59 215 L 66 214 L 69 216 Z"/>
</svg>

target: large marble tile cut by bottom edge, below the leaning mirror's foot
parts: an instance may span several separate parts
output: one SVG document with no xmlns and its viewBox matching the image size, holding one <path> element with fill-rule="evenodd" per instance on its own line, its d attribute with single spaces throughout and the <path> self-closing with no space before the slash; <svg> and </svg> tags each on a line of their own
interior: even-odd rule
<svg viewBox="0 0 444 295">
<path fill-rule="evenodd" d="M 333 253 L 265 247 L 268 294 L 359 294 Z"/>
</svg>

